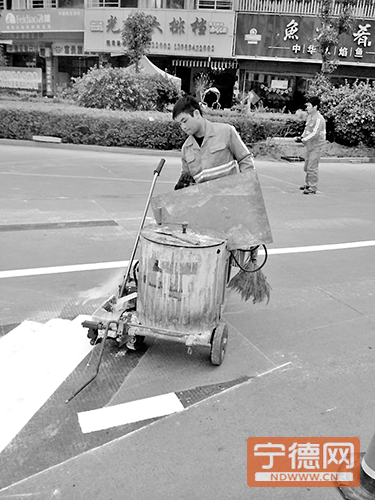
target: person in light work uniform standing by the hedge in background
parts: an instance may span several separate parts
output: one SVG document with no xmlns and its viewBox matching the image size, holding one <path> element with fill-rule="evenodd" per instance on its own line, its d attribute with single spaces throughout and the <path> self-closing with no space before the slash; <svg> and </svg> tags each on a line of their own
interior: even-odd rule
<svg viewBox="0 0 375 500">
<path fill-rule="evenodd" d="M 303 170 L 305 184 L 300 187 L 303 194 L 315 194 L 318 189 L 318 169 L 322 147 L 326 141 L 326 121 L 319 112 L 319 97 L 310 97 L 306 102 L 307 120 L 305 130 L 296 142 L 306 146 L 306 158 Z"/>
</svg>

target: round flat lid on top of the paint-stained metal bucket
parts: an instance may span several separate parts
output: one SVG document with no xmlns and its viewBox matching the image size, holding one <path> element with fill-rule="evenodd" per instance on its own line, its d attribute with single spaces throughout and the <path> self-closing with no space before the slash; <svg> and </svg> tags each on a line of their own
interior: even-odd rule
<svg viewBox="0 0 375 500">
<path fill-rule="evenodd" d="M 150 224 L 144 227 L 141 235 L 149 241 L 161 245 L 172 245 L 176 247 L 201 248 L 213 247 L 225 243 L 225 238 L 207 230 L 195 231 L 189 227 L 183 228 L 183 224 L 159 225 Z"/>
</svg>

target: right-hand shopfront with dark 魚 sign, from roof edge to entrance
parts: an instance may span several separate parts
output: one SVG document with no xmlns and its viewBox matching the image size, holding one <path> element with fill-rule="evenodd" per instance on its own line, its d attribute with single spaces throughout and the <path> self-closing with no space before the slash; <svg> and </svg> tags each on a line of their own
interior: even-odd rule
<svg viewBox="0 0 375 500">
<path fill-rule="evenodd" d="M 340 1 L 333 0 L 333 12 Z M 296 110 L 303 105 L 308 79 L 321 70 L 316 37 L 317 0 L 239 0 L 234 57 L 239 89 L 253 91 L 269 107 Z M 375 5 L 359 1 L 350 34 L 341 35 L 333 59 L 333 80 L 375 80 Z"/>
</svg>

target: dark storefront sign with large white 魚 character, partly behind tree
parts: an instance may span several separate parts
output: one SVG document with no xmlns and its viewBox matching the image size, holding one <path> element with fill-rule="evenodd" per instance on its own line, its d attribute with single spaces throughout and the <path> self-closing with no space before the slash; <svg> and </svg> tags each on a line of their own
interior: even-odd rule
<svg viewBox="0 0 375 500">
<path fill-rule="evenodd" d="M 249 59 L 321 61 L 316 39 L 321 23 L 317 17 L 239 14 L 235 55 Z M 257 36 L 257 38 L 256 38 Z M 340 36 L 333 59 L 343 64 L 375 65 L 375 22 L 357 20 L 350 34 Z"/>
</svg>

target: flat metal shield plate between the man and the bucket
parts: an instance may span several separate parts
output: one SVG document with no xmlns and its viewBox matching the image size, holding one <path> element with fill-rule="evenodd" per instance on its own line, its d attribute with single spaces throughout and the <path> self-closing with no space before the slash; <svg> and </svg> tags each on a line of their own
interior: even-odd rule
<svg viewBox="0 0 375 500">
<path fill-rule="evenodd" d="M 158 224 L 187 222 L 192 230 L 216 231 L 228 250 L 272 243 L 256 170 L 154 196 L 151 207 Z"/>
</svg>

